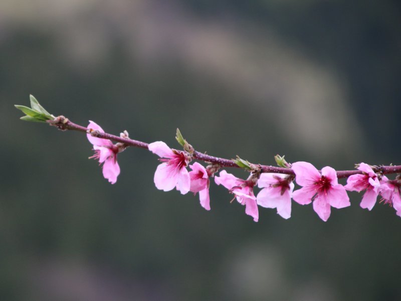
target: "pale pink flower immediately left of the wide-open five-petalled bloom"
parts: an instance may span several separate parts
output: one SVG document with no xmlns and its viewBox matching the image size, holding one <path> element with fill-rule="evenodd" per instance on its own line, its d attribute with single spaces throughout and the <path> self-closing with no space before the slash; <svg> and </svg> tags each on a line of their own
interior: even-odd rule
<svg viewBox="0 0 401 301">
<path fill-rule="evenodd" d="M 291 194 L 294 183 L 288 180 L 288 175 L 262 173 L 258 186 L 264 187 L 256 197 L 258 205 L 265 208 L 277 208 L 277 213 L 282 217 L 291 217 Z"/>
</svg>

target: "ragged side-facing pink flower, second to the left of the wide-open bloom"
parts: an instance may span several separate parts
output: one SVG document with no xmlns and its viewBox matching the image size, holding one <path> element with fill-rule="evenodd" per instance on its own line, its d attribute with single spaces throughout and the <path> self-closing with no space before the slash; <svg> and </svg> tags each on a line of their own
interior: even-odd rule
<svg viewBox="0 0 401 301">
<path fill-rule="evenodd" d="M 215 176 L 215 182 L 218 185 L 222 184 L 229 189 L 231 193 L 234 193 L 237 201 L 245 205 L 245 213 L 251 215 L 254 221 L 258 221 L 259 211 L 253 191 L 253 184 L 231 173 L 227 173 L 226 170 L 220 171 L 220 176 Z"/>
</svg>

